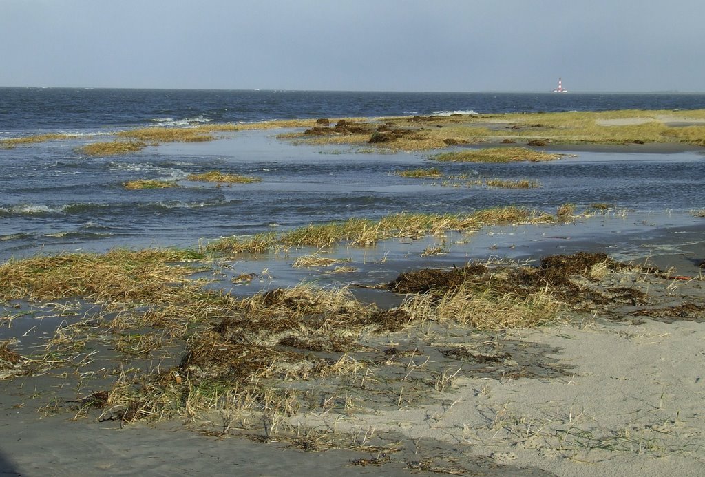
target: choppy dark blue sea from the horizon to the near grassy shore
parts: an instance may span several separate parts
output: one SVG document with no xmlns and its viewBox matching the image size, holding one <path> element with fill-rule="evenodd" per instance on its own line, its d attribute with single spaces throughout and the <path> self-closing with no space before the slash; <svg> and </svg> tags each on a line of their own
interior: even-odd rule
<svg viewBox="0 0 705 477">
<path fill-rule="evenodd" d="M 115 132 L 151 125 L 621 109 L 705 109 L 705 94 L 3 87 L 0 139 L 44 133 L 66 139 L 0 147 L 0 261 L 114 247 L 197 247 L 219 237 L 350 217 L 508 205 L 555 213 L 561 204 L 577 210 L 609 204 L 615 211 L 678 216 L 697 226 L 692 211 L 705 208 L 705 149 L 697 148 L 565 151 L 571 155 L 550 163 L 438 164 L 429 159 L 433 151 L 383 154 L 312 146 L 278 139 L 271 130 L 248 130 L 214 142 L 160 144 L 124 156 L 87 157 L 78 151 L 84 144 L 111 140 Z M 431 166 L 448 175 L 527 178 L 540 187 L 458 187 L 396 173 Z M 214 170 L 261 182 L 226 187 L 187 180 L 191 173 Z M 181 187 L 125 190 L 123 183 L 136 179 L 175 180 Z"/>
</svg>

